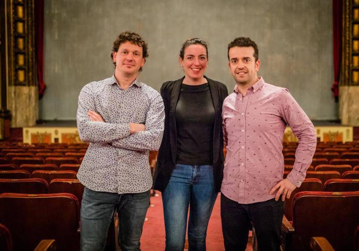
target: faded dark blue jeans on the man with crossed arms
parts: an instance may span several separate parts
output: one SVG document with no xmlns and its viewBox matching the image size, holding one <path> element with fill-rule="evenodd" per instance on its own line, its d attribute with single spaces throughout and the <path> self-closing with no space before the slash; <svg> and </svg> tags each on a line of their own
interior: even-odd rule
<svg viewBox="0 0 359 251">
<path fill-rule="evenodd" d="M 102 251 L 115 209 L 118 213 L 118 241 L 122 251 L 140 250 L 140 238 L 150 202 L 150 191 L 117 194 L 85 187 L 81 203 L 81 250 Z"/>
</svg>

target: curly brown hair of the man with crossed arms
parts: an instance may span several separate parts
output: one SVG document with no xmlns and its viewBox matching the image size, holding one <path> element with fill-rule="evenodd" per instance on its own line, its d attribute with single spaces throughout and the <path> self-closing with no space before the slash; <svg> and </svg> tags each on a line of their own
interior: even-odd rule
<svg viewBox="0 0 359 251">
<path fill-rule="evenodd" d="M 126 42 L 130 42 L 132 44 L 137 44 L 138 46 L 142 47 L 142 58 L 144 58 L 145 62 L 146 62 L 146 57 L 148 57 L 147 43 L 146 43 L 146 41 L 144 41 L 144 39 L 138 33 L 131 32 L 131 31 L 122 32 L 120 35 L 118 35 L 115 42 L 113 42 L 112 52 L 111 52 L 112 62 L 113 62 L 113 52 L 117 52 L 118 47 L 120 47 L 120 45 L 122 43 L 126 43 Z M 116 62 L 113 62 L 113 65 L 116 68 Z M 142 67 L 140 67 L 139 71 L 142 71 Z"/>
</svg>

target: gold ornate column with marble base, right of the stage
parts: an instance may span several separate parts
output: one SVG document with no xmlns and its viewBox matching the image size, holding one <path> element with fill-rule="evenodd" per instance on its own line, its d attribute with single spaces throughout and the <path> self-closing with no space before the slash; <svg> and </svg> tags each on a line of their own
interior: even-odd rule
<svg viewBox="0 0 359 251">
<path fill-rule="evenodd" d="M 359 126 L 359 0 L 343 0 L 342 42 L 339 118 Z"/>
</svg>

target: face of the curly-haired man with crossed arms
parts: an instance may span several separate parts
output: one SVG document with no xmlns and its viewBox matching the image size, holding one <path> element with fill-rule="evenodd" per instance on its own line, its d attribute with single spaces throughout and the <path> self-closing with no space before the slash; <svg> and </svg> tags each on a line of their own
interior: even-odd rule
<svg viewBox="0 0 359 251">
<path fill-rule="evenodd" d="M 113 61 L 116 62 L 116 72 L 123 75 L 138 74 L 140 67 L 145 65 L 142 57 L 143 49 L 137 44 L 126 42 L 120 44 L 117 52 L 113 52 Z"/>
</svg>

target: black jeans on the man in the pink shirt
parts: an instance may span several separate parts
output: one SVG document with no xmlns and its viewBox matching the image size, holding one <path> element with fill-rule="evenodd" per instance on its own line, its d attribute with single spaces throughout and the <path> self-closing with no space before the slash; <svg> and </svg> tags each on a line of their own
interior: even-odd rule
<svg viewBox="0 0 359 251">
<path fill-rule="evenodd" d="M 246 250 L 251 222 L 258 250 L 280 250 L 283 202 L 275 199 L 239 204 L 221 194 L 221 218 L 226 251 Z"/>
</svg>

